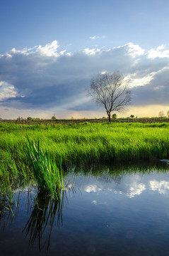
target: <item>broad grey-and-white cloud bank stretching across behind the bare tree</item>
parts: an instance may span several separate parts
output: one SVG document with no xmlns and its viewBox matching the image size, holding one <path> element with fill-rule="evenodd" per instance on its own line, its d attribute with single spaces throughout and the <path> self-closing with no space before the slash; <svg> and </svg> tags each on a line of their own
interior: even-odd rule
<svg viewBox="0 0 169 256">
<path fill-rule="evenodd" d="M 168 105 L 169 50 L 144 50 L 127 43 L 115 48 L 59 50 L 59 43 L 0 54 L 0 106 L 18 110 L 97 110 L 86 87 L 99 72 L 130 79 L 132 105 Z"/>
</svg>

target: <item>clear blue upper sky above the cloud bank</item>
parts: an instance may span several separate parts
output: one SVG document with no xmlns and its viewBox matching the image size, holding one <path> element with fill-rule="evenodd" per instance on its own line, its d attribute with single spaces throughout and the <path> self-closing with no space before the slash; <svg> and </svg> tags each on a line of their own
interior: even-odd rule
<svg viewBox="0 0 169 256">
<path fill-rule="evenodd" d="M 86 46 L 143 48 L 168 43 L 168 0 L 1 0 L 1 53 L 54 40 L 76 51 Z M 98 36 L 95 42 L 90 36 Z"/>
</svg>

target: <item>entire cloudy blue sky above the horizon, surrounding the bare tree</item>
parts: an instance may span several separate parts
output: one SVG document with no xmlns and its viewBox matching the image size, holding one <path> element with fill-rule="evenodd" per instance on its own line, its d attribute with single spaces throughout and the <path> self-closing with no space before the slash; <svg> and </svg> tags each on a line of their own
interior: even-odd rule
<svg viewBox="0 0 169 256">
<path fill-rule="evenodd" d="M 169 110 L 168 0 L 0 0 L 0 117 L 94 118 L 91 78 L 117 70 L 132 104 L 117 117 Z"/>
</svg>

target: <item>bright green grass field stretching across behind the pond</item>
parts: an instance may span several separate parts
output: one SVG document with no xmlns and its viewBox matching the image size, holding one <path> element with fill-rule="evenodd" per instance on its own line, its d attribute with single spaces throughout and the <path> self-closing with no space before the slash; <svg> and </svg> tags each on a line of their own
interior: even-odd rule
<svg viewBox="0 0 169 256">
<path fill-rule="evenodd" d="M 0 124 L 1 168 L 28 169 L 27 137 L 64 164 L 161 159 L 169 156 L 169 124 Z"/>
</svg>

